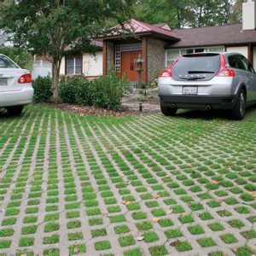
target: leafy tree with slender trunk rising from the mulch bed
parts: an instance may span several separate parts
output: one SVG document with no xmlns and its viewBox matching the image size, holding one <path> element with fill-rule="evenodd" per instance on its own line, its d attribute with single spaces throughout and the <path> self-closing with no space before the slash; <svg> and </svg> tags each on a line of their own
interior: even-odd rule
<svg viewBox="0 0 256 256">
<path fill-rule="evenodd" d="M 15 0 L 2 1 L 0 24 L 14 35 L 15 44 L 34 54 L 49 55 L 53 66 L 54 99 L 61 58 L 68 45 L 92 50 L 91 40 L 106 30 L 108 20 L 120 24 L 131 15 L 133 0 Z"/>
</svg>

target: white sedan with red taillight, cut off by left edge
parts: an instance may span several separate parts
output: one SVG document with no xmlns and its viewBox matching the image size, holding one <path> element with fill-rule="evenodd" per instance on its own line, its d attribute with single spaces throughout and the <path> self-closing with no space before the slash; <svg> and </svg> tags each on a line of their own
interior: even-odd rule
<svg viewBox="0 0 256 256">
<path fill-rule="evenodd" d="M 33 92 L 31 73 L 0 54 L 0 108 L 19 115 L 23 106 L 32 102 Z"/>
</svg>

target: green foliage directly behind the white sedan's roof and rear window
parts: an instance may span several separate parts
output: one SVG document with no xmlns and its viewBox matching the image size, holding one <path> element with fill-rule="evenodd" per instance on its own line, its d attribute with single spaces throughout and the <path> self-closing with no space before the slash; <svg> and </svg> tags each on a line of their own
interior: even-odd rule
<svg viewBox="0 0 256 256">
<path fill-rule="evenodd" d="M 3 47 L 0 46 L 0 53 L 7 55 L 10 59 L 15 61 L 21 68 L 32 71 L 33 56 L 26 49 L 19 47 Z"/>
</svg>

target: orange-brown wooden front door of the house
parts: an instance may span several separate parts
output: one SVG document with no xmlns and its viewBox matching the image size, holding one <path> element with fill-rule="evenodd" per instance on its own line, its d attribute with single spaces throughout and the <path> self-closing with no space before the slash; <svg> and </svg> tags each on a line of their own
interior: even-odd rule
<svg viewBox="0 0 256 256">
<path fill-rule="evenodd" d="M 131 82 L 137 82 L 137 63 L 134 62 L 138 55 L 142 55 L 141 50 L 123 51 L 121 53 L 121 74 L 126 73 L 127 78 Z"/>
</svg>

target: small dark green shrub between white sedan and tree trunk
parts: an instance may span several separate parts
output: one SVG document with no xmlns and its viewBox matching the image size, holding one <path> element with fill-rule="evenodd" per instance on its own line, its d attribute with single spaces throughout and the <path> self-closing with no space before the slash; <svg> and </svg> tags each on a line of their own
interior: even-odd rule
<svg viewBox="0 0 256 256">
<path fill-rule="evenodd" d="M 34 89 L 34 102 L 48 102 L 50 96 L 52 96 L 52 80 L 49 77 L 38 77 L 38 79 L 32 81 L 32 87 Z"/>
</svg>

